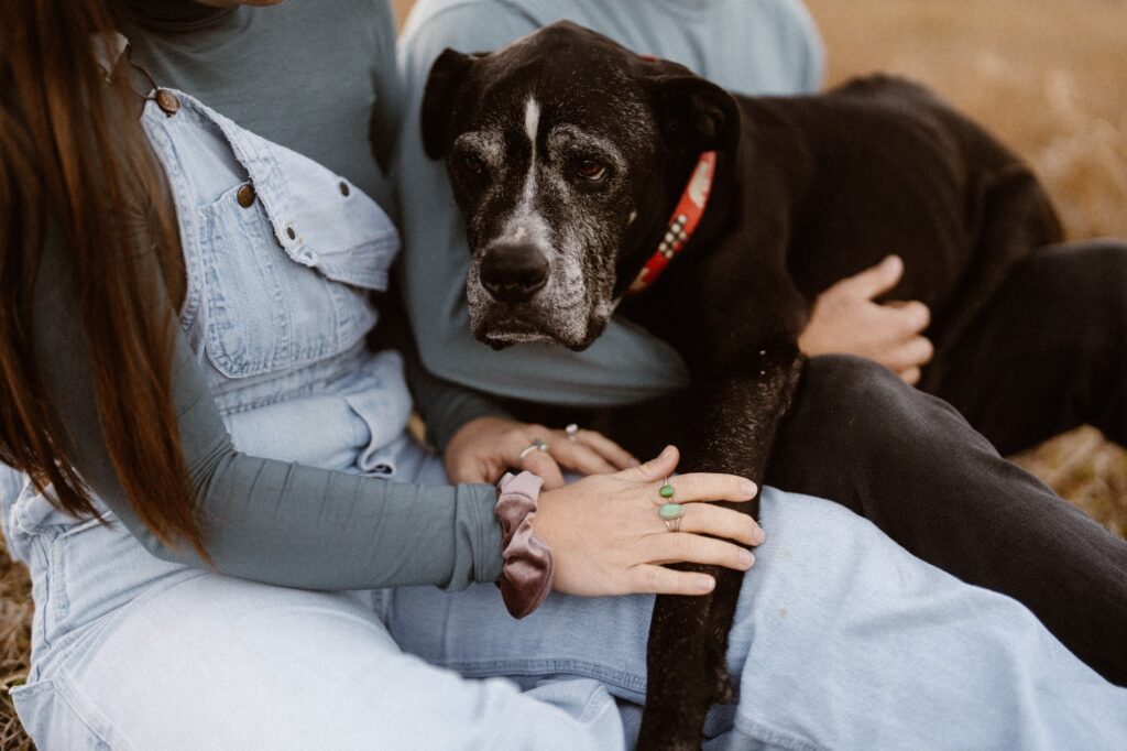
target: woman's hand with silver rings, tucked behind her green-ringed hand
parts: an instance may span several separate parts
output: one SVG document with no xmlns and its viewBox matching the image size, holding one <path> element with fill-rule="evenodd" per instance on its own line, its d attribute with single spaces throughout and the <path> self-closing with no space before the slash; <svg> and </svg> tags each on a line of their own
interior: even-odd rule
<svg viewBox="0 0 1127 751">
<path fill-rule="evenodd" d="M 547 451 L 525 451 L 538 440 Z M 564 469 L 601 475 L 638 466 L 630 452 L 595 431 L 580 430 L 571 440 L 564 431 L 499 417 L 465 423 L 451 439 L 443 461 L 452 483 L 496 483 L 506 469 L 515 468 L 539 475 L 548 489 L 564 486 Z"/>
</svg>

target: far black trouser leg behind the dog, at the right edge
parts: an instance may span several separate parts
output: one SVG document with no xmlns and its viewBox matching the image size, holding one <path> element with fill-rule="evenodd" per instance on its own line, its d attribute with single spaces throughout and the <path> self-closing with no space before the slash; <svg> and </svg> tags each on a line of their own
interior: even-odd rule
<svg viewBox="0 0 1127 751">
<path fill-rule="evenodd" d="M 1127 245 L 1038 250 L 937 361 L 924 388 L 1004 454 L 1085 424 L 1127 447 Z"/>
</svg>

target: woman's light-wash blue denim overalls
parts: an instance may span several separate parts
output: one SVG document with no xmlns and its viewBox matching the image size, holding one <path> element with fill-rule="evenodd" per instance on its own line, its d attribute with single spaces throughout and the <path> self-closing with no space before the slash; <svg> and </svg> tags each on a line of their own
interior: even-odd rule
<svg viewBox="0 0 1127 751">
<path fill-rule="evenodd" d="M 161 97 L 175 114 L 159 97 L 143 123 L 179 219 L 181 325 L 236 447 L 444 481 L 405 434 L 399 357 L 363 346 L 378 316 L 366 292 L 387 286 L 398 247 L 387 215 L 190 96 Z M 615 749 L 636 731 L 651 598 L 553 594 L 515 621 L 491 584 L 268 586 L 158 560 L 121 524 L 74 520 L 29 488 L 5 503 L 36 601 L 33 670 L 12 697 L 43 751 Z M 762 510 L 769 541 L 729 650 L 740 700 L 711 713 L 706 748 L 1127 737 L 1127 691 L 1017 602 L 837 504 L 766 488 Z"/>
</svg>

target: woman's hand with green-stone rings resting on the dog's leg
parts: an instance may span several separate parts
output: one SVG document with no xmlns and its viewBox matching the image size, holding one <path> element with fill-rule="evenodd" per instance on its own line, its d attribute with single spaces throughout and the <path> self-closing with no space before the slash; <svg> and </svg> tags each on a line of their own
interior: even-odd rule
<svg viewBox="0 0 1127 751">
<path fill-rule="evenodd" d="M 760 525 L 738 511 L 691 502 L 751 501 L 755 484 L 734 475 L 681 475 L 669 479 L 673 498 L 663 498 L 658 491 L 677 460 L 677 450 L 668 447 L 640 467 L 587 477 L 540 494 L 531 523 L 552 551 L 553 589 L 585 597 L 707 594 L 716 586 L 715 578 L 662 564 L 751 568 L 755 558 L 740 546 L 763 541 Z M 678 532 L 671 532 L 657 513 L 663 504 L 674 501 L 689 504 Z"/>
</svg>

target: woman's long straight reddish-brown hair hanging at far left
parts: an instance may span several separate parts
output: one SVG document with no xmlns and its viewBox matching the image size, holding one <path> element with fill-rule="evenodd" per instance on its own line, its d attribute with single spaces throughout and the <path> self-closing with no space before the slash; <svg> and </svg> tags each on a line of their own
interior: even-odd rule
<svg viewBox="0 0 1127 751">
<path fill-rule="evenodd" d="M 162 542 L 187 540 L 206 557 L 172 406 L 174 315 L 158 307 L 152 266 L 141 272 L 148 248 L 130 247 L 127 207 L 166 192 L 137 94 L 126 76 L 107 78 L 95 54 L 113 44 L 114 9 L 107 0 L 0 0 L 0 461 L 37 489 L 50 486 L 66 512 L 97 515 L 68 461 L 65 415 L 52 406 L 35 351 L 32 300 L 51 222 L 73 268 L 117 477 Z M 179 254 L 171 207 L 153 203 L 158 257 Z"/>
</svg>

